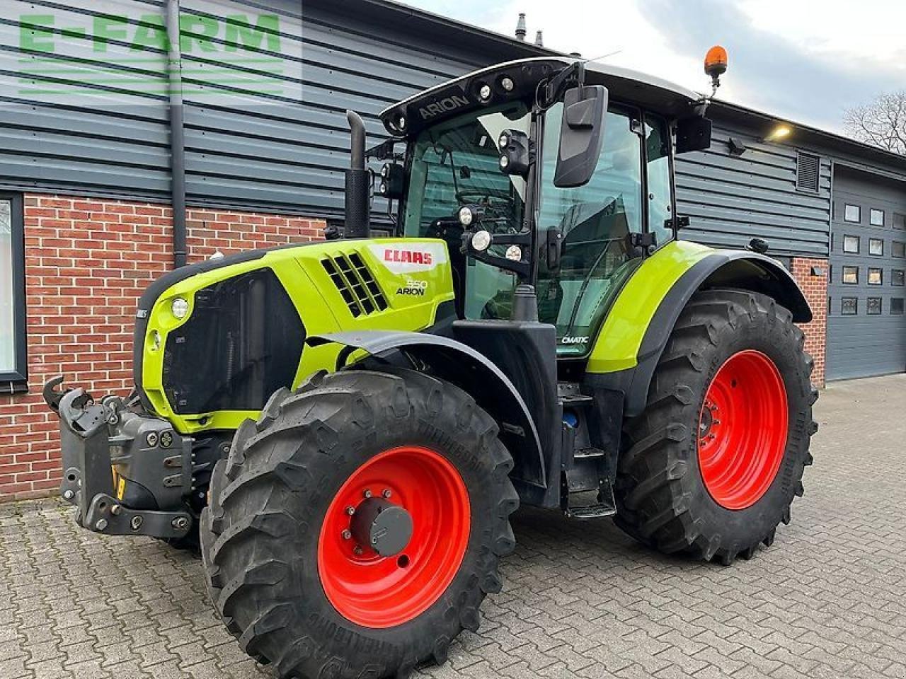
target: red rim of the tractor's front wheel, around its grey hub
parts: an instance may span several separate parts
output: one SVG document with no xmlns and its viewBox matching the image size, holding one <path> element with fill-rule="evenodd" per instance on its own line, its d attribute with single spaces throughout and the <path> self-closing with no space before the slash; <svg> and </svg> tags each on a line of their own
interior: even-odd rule
<svg viewBox="0 0 906 679">
<path fill-rule="evenodd" d="M 382 557 L 347 532 L 348 508 L 361 506 L 366 493 L 409 512 L 412 535 L 399 554 Z M 375 455 L 342 484 L 324 517 L 318 540 L 324 594 L 342 617 L 358 625 L 383 628 L 408 622 L 437 601 L 456 577 L 470 525 L 466 484 L 445 457 L 415 445 Z"/>
</svg>

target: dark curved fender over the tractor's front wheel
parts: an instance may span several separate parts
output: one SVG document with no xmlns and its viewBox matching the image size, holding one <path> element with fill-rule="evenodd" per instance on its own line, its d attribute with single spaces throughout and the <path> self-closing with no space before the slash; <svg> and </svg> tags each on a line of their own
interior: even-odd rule
<svg viewBox="0 0 906 679">
<path fill-rule="evenodd" d="M 545 458 L 535 420 L 510 379 L 484 354 L 456 339 L 424 332 L 362 330 L 316 335 L 306 340 L 313 347 L 331 342 L 346 348 L 340 353 L 337 369 L 356 349 L 376 357 L 400 351 L 429 367 L 457 366 L 456 371 L 441 372 L 501 424 L 501 438 L 516 463 L 514 479 L 542 489 L 547 487 Z"/>
</svg>

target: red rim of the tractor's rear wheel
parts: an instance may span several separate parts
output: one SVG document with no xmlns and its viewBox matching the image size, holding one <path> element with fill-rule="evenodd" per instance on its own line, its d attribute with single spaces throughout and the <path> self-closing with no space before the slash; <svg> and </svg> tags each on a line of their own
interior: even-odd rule
<svg viewBox="0 0 906 679">
<path fill-rule="evenodd" d="M 727 359 L 699 415 L 699 470 L 714 502 L 741 510 L 761 499 L 784 458 L 787 420 L 774 361 L 752 349 Z"/>
</svg>

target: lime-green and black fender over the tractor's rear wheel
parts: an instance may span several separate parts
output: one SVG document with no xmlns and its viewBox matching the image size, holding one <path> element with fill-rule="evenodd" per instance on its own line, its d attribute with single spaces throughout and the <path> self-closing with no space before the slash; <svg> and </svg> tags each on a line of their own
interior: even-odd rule
<svg viewBox="0 0 906 679">
<path fill-rule="evenodd" d="M 679 314 L 708 288 L 760 292 L 789 309 L 795 322 L 812 320 L 798 283 L 770 257 L 677 241 L 643 263 L 614 302 L 589 356 L 590 384 L 622 391 L 625 414 L 639 415 Z"/>
</svg>

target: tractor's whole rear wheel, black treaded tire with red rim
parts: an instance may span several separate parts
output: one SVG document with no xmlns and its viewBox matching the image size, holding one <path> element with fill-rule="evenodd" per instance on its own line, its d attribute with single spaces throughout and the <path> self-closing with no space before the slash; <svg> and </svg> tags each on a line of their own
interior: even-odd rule
<svg viewBox="0 0 906 679">
<path fill-rule="evenodd" d="M 729 564 L 774 541 L 802 495 L 817 430 L 813 360 L 784 307 L 747 291 L 699 292 L 626 424 L 617 524 L 665 553 Z"/>
</svg>

